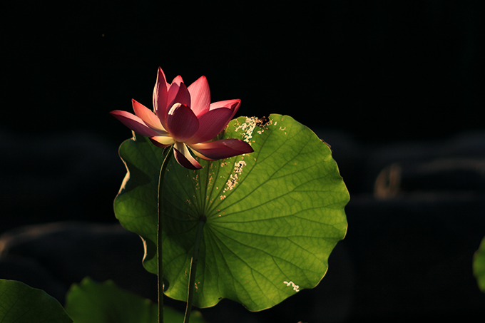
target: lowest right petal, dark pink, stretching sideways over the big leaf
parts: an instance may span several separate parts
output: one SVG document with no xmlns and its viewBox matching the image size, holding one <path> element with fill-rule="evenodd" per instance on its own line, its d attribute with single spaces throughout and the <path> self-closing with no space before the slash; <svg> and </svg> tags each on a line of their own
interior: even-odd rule
<svg viewBox="0 0 485 323">
<path fill-rule="evenodd" d="M 243 153 L 252 153 L 254 150 L 249 143 L 240 139 L 223 139 L 210 143 L 195 143 L 189 145 L 195 155 L 205 160 L 218 160 L 230 158 Z"/>
</svg>

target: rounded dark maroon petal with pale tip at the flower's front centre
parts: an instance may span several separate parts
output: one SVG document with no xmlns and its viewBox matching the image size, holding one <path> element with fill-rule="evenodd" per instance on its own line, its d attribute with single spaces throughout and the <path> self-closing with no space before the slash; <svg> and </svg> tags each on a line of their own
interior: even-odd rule
<svg viewBox="0 0 485 323">
<path fill-rule="evenodd" d="M 167 128 L 175 141 L 185 142 L 199 128 L 199 121 L 188 106 L 175 103 L 167 116 Z"/>
</svg>

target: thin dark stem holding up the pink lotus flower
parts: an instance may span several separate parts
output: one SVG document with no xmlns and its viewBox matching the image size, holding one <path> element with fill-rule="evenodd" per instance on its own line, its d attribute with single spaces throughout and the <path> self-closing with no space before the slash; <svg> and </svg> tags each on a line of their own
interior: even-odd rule
<svg viewBox="0 0 485 323">
<path fill-rule="evenodd" d="M 173 155 L 173 147 L 168 149 L 158 175 L 158 218 L 157 218 L 157 260 L 158 260 L 158 322 L 163 323 L 163 267 L 162 267 L 162 190 L 163 178 L 167 170 L 168 162 Z"/>
</svg>

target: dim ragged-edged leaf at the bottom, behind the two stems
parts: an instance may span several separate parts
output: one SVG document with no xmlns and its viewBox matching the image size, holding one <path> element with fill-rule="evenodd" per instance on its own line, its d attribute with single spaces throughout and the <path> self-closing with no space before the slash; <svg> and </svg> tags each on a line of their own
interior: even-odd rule
<svg viewBox="0 0 485 323">
<path fill-rule="evenodd" d="M 158 305 L 150 299 L 121 289 L 108 280 L 93 282 L 86 277 L 73 284 L 66 295 L 66 312 L 76 323 L 157 323 Z M 163 322 L 182 323 L 183 313 L 163 309 Z M 190 323 L 204 323 L 200 312 L 192 312 Z"/>
</svg>

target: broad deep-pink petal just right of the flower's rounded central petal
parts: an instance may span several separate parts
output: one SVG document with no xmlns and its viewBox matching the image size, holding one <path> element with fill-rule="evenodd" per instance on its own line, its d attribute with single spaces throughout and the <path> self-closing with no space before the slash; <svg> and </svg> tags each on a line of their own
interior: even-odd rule
<svg viewBox="0 0 485 323">
<path fill-rule="evenodd" d="M 218 108 L 203 113 L 202 116 L 198 116 L 199 130 L 186 143 L 204 143 L 215 138 L 228 125 L 232 116 L 233 111 L 228 108 Z"/>
</svg>

